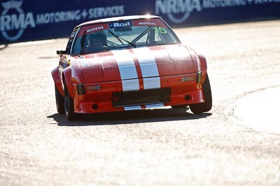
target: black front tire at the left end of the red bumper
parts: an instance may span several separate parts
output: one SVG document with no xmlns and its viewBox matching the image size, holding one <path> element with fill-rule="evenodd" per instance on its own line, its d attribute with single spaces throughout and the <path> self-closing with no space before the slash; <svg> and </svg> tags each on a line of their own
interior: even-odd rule
<svg viewBox="0 0 280 186">
<path fill-rule="evenodd" d="M 74 113 L 73 98 L 69 95 L 68 88 L 64 82 L 64 111 L 68 121 L 73 121 L 76 119 L 76 114 Z"/>
</svg>

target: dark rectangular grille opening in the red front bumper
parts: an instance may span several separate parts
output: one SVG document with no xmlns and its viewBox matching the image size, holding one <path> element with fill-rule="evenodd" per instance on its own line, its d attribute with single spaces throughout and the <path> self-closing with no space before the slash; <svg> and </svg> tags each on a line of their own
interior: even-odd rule
<svg viewBox="0 0 280 186">
<path fill-rule="evenodd" d="M 170 102 L 170 88 L 113 93 L 113 107 Z"/>
</svg>

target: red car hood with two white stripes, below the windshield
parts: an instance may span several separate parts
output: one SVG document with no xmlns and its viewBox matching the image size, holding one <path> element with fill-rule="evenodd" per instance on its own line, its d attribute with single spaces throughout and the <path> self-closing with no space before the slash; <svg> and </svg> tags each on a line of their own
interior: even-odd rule
<svg viewBox="0 0 280 186">
<path fill-rule="evenodd" d="M 184 45 L 114 49 L 76 57 L 83 79 L 109 82 L 195 72 Z"/>
</svg>

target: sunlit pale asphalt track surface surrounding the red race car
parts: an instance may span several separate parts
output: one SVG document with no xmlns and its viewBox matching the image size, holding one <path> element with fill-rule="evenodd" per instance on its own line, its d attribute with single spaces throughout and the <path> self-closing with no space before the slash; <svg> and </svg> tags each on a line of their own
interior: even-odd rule
<svg viewBox="0 0 280 186">
<path fill-rule="evenodd" d="M 67 40 L 1 46 L 0 185 L 280 185 L 280 20 L 175 31 L 207 56 L 209 113 L 68 122 L 50 75 Z"/>
</svg>

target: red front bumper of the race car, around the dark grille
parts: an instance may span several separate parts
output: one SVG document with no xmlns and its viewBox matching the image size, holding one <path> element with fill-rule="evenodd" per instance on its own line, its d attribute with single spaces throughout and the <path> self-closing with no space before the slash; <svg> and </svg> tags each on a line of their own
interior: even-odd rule
<svg viewBox="0 0 280 186">
<path fill-rule="evenodd" d="M 123 91 L 122 81 L 83 84 L 83 93 L 80 93 L 78 85 L 73 85 L 74 111 L 100 113 L 204 102 L 201 78 L 197 78 L 197 75 L 160 77 L 160 88 L 152 89 L 144 89 L 143 79 L 139 79 L 139 91 L 128 92 Z M 87 91 L 89 86 L 97 86 L 99 90 Z"/>
</svg>

